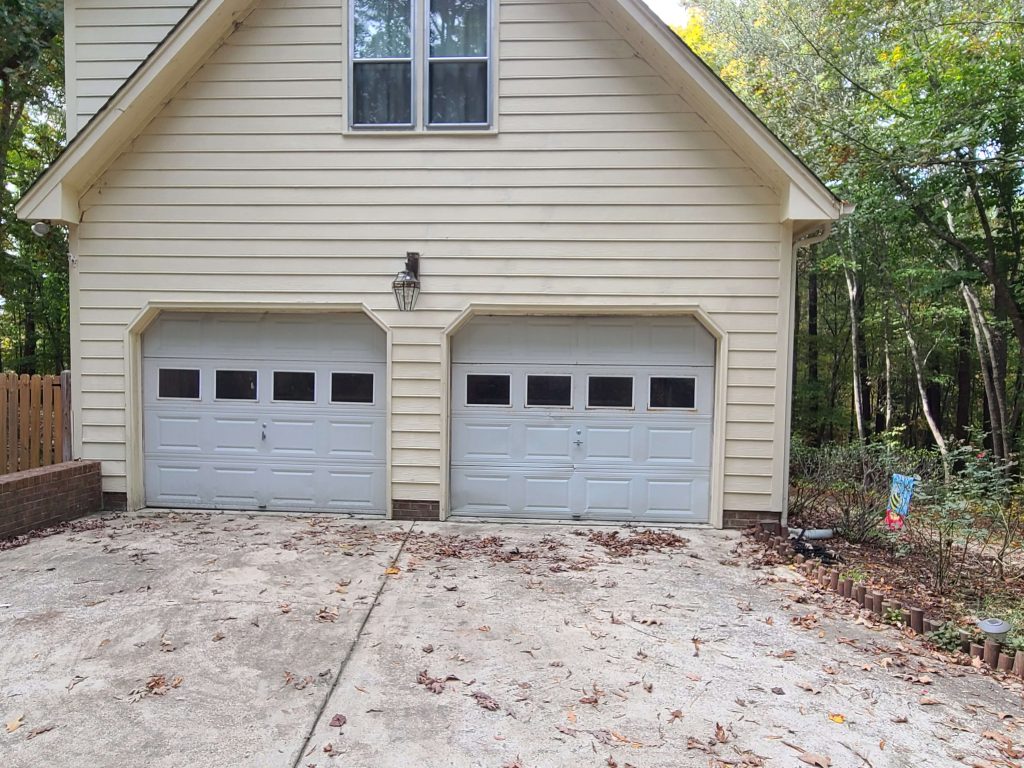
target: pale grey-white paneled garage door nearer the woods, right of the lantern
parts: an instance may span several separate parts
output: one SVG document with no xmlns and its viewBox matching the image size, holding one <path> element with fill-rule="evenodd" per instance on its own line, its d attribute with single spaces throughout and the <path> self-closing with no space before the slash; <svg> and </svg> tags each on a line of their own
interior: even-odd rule
<svg viewBox="0 0 1024 768">
<path fill-rule="evenodd" d="M 454 515 L 707 522 L 715 340 L 683 317 L 480 317 L 453 341 Z"/>
</svg>

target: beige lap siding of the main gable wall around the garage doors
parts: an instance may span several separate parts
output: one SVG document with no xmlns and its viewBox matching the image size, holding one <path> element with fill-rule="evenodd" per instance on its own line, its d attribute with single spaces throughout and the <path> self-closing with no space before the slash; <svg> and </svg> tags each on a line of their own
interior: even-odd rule
<svg viewBox="0 0 1024 768">
<path fill-rule="evenodd" d="M 589 2 L 503 0 L 498 131 L 344 130 L 343 11 L 264 2 L 82 201 L 83 452 L 126 489 L 148 301 L 365 302 L 392 330 L 392 496 L 438 500 L 442 334 L 470 302 L 699 305 L 729 334 L 726 509 L 778 510 L 775 191 Z M 390 282 L 423 254 L 415 311 Z"/>
</svg>

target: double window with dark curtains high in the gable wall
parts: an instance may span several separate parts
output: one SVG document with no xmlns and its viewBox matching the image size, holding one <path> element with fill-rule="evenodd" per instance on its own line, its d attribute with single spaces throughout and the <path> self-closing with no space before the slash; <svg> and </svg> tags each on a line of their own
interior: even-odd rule
<svg viewBox="0 0 1024 768">
<path fill-rule="evenodd" d="M 490 2 L 352 0 L 352 127 L 487 127 Z"/>
</svg>

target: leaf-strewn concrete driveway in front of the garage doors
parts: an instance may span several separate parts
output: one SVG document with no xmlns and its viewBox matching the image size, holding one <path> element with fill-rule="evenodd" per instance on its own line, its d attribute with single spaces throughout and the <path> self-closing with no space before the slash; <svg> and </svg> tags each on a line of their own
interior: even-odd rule
<svg viewBox="0 0 1024 768">
<path fill-rule="evenodd" d="M 1019 690 L 736 534 L 613 530 L 163 514 L 0 552 L 0 765 L 1019 763 Z"/>
</svg>

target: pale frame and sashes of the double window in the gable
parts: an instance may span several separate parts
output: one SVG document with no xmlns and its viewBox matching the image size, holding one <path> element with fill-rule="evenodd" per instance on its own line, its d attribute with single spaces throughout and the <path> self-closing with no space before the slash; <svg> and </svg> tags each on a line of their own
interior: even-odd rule
<svg viewBox="0 0 1024 768">
<path fill-rule="evenodd" d="M 411 0 L 411 41 L 410 59 L 406 58 L 359 58 L 354 57 L 355 52 L 355 3 L 348 0 L 346 8 L 346 24 L 348 25 L 346 41 L 346 84 L 345 94 L 345 125 L 348 132 L 353 135 L 375 135 L 388 133 L 402 133 L 415 135 L 427 135 L 429 133 L 461 133 L 461 134 L 495 134 L 498 132 L 498 113 L 495 101 L 498 98 L 498 56 L 495 49 L 498 45 L 497 26 L 497 5 L 498 0 L 486 0 L 487 23 L 486 23 L 486 56 L 438 56 L 436 61 L 485 61 L 487 65 L 487 120 L 485 123 L 431 123 L 430 122 L 430 24 L 429 11 L 430 0 Z M 356 123 L 354 122 L 355 110 L 353 103 L 354 95 L 354 65 L 366 61 L 411 62 L 410 88 L 411 97 L 411 119 L 410 124 L 404 123 Z"/>
</svg>

